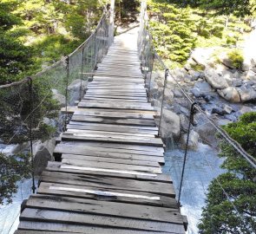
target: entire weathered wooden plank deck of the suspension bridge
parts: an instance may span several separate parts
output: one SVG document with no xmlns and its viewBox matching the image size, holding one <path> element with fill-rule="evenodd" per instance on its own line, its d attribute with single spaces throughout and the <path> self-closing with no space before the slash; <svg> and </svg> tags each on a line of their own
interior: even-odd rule
<svg viewBox="0 0 256 234">
<path fill-rule="evenodd" d="M 135 47 L 116 39 L 68 113 L 16 234 L 185 233 Z"/>
</svg>

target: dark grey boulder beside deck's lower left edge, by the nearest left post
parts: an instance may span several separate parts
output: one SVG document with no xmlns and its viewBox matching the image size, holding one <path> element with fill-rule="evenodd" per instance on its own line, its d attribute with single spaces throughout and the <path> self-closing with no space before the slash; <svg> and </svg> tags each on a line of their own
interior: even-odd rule
<svg viewBox="0 0 256 234">
<path fill-rule="evenodd" d="M 47 166 L 48 161 L 53 161 L 53 152 L 56 147 L 56 140 L 47 140 L 37 146 L 34 156 L 35 175 L 40 175 Z"/>
</svg>

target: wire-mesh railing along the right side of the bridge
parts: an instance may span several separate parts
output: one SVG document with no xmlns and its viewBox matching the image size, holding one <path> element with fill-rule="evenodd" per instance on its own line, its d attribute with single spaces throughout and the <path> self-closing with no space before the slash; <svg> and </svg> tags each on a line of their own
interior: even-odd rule
<svg viewBox="0 0 256 234">
<path fill-rule="evenodd" d="M 141 3 L 138 49 L 148 100 L 158 112 L 159 134 L 166 140 L 164 171 L 174 180 L 181 212 L 188 218 L 188 233 L 198 232 L 200 218 L 204 218 L 202 223 L 205 224 L 201 229 L 212 226 L 212 233 L 220 233 L 221 228 L 244 233 L 253 231 L 256 209 L 249 204 L 256 194 L 255 155 L 246 153 L 226 133 L 220 126 L 225 120 L 204 110 L 204 101 L 195 103 L 189 92 L 189 75 L 181 69 L 167 68 L 154 49 L 144 1 Z M 223 162 L 224 167 L 221 166 Z M 226 168 L 233 169 L 227 172 Z M 215 198 L 207 200 L 208 188 Z M 202 206 L 211 209 L 203 211 Z M 221 210 L 226 211 L 225 217 L 218 216 Z M 235 220 L 234 227 L 229 218 Z"/>
</svg>

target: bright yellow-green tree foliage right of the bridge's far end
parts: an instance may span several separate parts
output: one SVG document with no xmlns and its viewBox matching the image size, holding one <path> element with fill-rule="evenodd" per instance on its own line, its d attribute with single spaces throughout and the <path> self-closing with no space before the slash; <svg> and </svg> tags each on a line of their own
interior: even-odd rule
<svg viewBox="0 0 256 234">
<path fill-rule="evenodd" d="M 186 62 L 195 43 L 193 33 L 195 25 L 190 20 L 190 10 L 177 8 L 168 3 L 151 1 L 148 11 L 149 15 L 154 15 L 150 26 L 159 55 L 173 62 Z"/>
</svg>

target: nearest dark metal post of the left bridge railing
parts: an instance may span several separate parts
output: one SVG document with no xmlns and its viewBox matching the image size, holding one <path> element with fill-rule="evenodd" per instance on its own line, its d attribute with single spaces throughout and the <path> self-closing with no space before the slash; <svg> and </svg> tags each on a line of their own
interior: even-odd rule
<svg viewBox="0 0 256 234">
<path fill-rule="evenodd" d="M 30 93 L 30 118 L 29 118 L 29 127 L 30 127 L 30 154 L 31 154 L 31 164 L 32 164 L 32 191 L 33 193 L 36 192 L 36 185 L 35 185 L 35 165 L 34 165 L 34 153 L 33 153 L 33 132 L 32 132 L 32 112 L 33 112 L 33 81 L 31 77 L 28 77 L 29 81 L 29 93 Z"/>
</svg>

